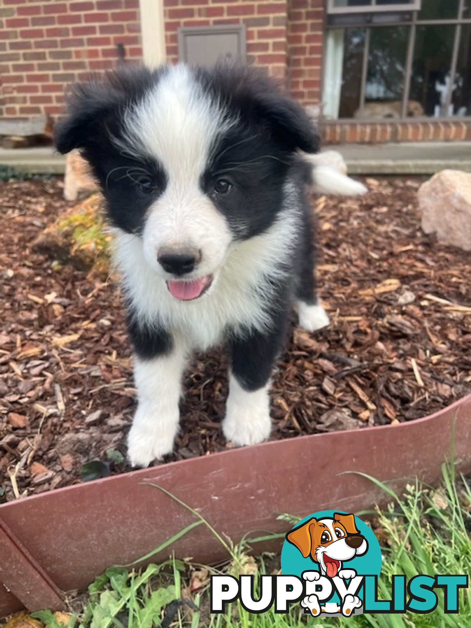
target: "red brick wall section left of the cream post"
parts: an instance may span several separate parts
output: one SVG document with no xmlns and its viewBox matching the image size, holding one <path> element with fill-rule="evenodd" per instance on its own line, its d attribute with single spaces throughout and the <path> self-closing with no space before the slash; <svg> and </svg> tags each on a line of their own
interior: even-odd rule
<svg viewBox="0 0 471 628">
<path fill-rule="evenodd" d="M 0 116 L 56 116 L 68 84 L 141 59 L 139 0 L 0 0 Z"/>
</svg>

